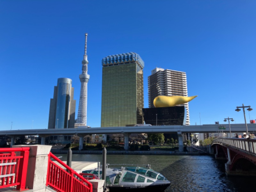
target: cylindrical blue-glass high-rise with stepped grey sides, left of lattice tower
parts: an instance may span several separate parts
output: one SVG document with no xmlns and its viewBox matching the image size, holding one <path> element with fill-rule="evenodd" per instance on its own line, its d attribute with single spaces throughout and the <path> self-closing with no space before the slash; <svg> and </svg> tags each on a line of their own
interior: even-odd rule
<svg viewBox="0 0 256 192">
<path fill-rule="evenodd" d="M 74 128 L 76 100 L 69 78 L 59 78 L 50 101 L 48 129 Z"/>
</svg>

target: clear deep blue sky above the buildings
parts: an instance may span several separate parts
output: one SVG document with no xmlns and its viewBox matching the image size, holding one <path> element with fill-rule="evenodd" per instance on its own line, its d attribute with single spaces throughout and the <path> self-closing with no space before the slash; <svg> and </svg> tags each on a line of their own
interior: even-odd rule
<svg viewBox="0 0 256 192">
<path fill-rule="evenodd" d="M 87 124 L 100 126 L 101 59 L 136 52 L 151 70 L 187 73 L 190 124 L 256 119 L 254 0 L 1 0 L 0 130 L 47 129 L 57 79 L 72 79 L 76 117 L 88 33 Z M 200 118 L 201 117 L 201 118 Z"/>
</svg>

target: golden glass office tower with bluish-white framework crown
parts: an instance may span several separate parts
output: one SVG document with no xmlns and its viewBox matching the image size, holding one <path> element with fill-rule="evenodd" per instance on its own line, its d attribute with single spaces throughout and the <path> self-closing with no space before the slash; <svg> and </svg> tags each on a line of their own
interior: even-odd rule
<svg viewBox="0 0 256 192">
<path fill-rule="evenodd" d="M 101 127 L 144 123 L 143 68 L 133 52 L 102 59 Z"/>
</svg>

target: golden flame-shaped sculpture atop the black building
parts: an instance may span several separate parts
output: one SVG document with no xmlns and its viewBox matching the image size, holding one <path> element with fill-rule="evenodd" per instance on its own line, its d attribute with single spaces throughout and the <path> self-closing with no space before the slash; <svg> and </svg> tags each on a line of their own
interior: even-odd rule
<svg viewBox="0 0 256 192">
<path fill-rule="evenodd" d="M 191 97 L 161 95 L 161 96 L 157 96 L 154 99 L 154 106 L 155 107 L 173 107 L 176 105 L 187 103 L 196 97 L 197 95 L 191 96 Z"/>
</svg>

